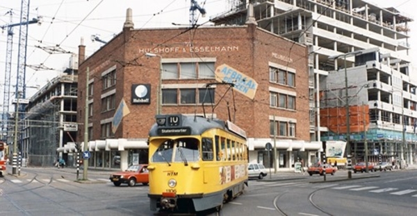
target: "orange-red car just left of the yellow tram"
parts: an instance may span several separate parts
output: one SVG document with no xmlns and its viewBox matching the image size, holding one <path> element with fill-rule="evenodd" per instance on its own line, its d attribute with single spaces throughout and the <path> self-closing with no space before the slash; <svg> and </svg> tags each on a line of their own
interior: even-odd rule
<svg viewBox="0 0 417 216">
<path fill-rule="evenodd" d="M 131 165 L 126 171 L 113 173 L 110 175 L 110 181 L 115 186 L 120 186 L 122 183 L 127 183 L 131 187 L 136 183 L 146 186 L 149 183 L 147 164 Z"/>
</svg>

